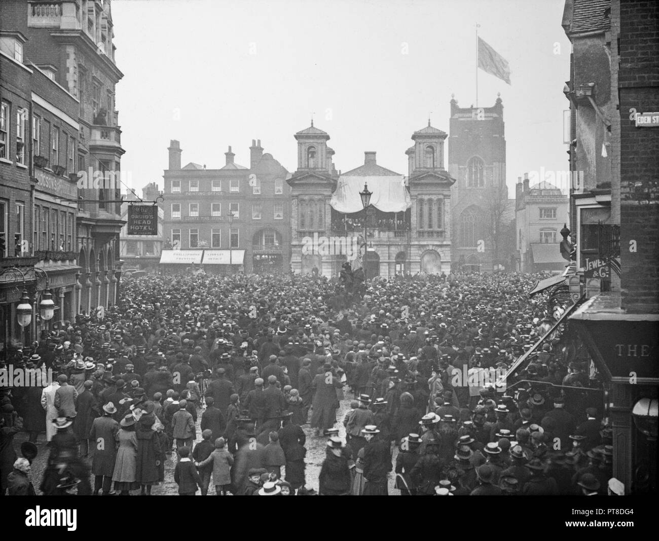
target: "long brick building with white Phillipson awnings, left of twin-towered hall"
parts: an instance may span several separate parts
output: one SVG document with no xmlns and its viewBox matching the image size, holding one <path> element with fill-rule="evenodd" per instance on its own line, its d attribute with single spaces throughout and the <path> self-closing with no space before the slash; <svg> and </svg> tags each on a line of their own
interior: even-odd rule
<svg viewBox="0 0 659 541">
<path fill-rule="evenodd" d="M 288 171 L 252 140 L 250 165 L 225 152 L 225 165 L 181 167 L 181 146 L 172 140 L 165 169 L 165 271 L 183 265 L 206 272 L 276 273 L 289 270 L 291 196 Z M 232 217 L 230 217 L 230 215 Z M 172 249 L 173 248 L 173 249 Z"/>
</svg>

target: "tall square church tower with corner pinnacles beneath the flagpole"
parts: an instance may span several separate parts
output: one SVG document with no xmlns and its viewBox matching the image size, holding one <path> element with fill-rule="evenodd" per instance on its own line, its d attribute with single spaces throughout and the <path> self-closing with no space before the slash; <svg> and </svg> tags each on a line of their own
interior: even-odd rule
<svg viewBox="0 0 659 541">
<path fill-rule="evenodd" d="M 458 107 L 451 96 L 449 173 L 451 188 L 453 270 L 493 270 L 501 239 L 502 215 L 507 215 L 503 104 Z"/>
</svg>

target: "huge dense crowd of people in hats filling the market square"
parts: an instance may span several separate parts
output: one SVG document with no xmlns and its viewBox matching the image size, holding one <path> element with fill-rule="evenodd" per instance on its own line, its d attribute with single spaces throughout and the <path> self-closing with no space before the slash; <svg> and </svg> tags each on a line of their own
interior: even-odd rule
<svg viewBox="0 0 659 541">
<path fill-rule="evenodd" d="M 181 495 L 618 493 L 569 329 L 507 374 L 542 337 L 537 278 L 380 279 L 355 302 L 319 276 L 129 279 L 103 319 L 7 352 L 51 379 L 0 389 L 0 490 L 148 495 L 171 459 Z M 309 438 L 326 449 L 318 490 Z"/>
</svg>

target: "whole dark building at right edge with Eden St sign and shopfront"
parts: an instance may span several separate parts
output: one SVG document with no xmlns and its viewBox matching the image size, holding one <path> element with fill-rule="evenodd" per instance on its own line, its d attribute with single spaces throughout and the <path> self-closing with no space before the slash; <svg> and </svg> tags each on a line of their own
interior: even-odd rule
<svg viewBox="0 0 659 541">
<path fill-rule="evenodd" d="M 588 298 L 569 322 L 608 390 L 602 413 L 625 494 L 656 491 L 659 123 L 637 115 L 657 115 L 658 24 L 659 6 L 645 1 L 567 0 L 563 14 L 573 44 L 570 165 L 585 171 L 571 190 L 569 287 Z"/>
</svg>

